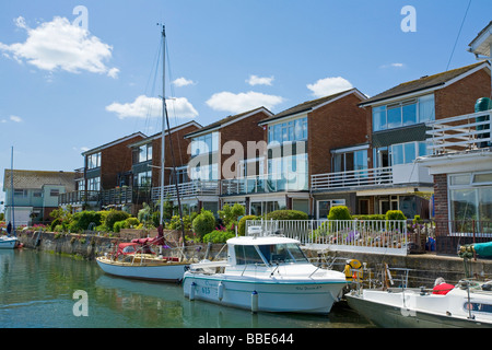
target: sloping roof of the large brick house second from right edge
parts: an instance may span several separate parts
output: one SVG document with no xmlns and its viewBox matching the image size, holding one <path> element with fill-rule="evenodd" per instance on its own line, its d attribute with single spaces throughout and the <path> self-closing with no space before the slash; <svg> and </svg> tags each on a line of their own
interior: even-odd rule
<svg viewBox="0 0 492 350">
<path fill-rule="evenodd" d="M 483 67 L 481 67 L 481 66 L 483 66 Z M 426 90 L 426 89 L 440 88 L 455 79 L 461 78 L 461 75 L 465 77 L 467 73 L 472 72 L 473 69 L 481 69 L 484 67 L 489 67 L 489 69 L 490 69 L 490 65 L 488 62 L 478 62 L 478 63 L 473 63 L 470 66 L 448 70 L 448 71 L 437 73 L 434 75 L 424 75 L 420 79 L 412 80 L 412 81 L 409 81 L 406 83 L 401 83 L 395 88 L 386 90 L 385 92 L 382 92 L 380 94 L 377 94 L 371 98 L 367 98 L 366 101 L 360 103 L 359 105 L 366 106 L 366 105 L 371 105 L 373 103 L 376 103 L 376 102 L 379 102 L 383 100 L 397 97 L 397 96 L 406 95 L 409 93 L 414 93 L 414 92 Z"/>
</svg>

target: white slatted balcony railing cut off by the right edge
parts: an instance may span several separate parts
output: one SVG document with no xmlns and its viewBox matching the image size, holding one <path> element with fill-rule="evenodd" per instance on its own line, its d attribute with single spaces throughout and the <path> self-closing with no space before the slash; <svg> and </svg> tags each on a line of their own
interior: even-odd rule
<svg viewBox="0 0 492 350">
<path fill-rule="evenodd" d="M 491 145 L 492 109 L 427 122 L 427 150 L 443 154 Z"/>
</svg>

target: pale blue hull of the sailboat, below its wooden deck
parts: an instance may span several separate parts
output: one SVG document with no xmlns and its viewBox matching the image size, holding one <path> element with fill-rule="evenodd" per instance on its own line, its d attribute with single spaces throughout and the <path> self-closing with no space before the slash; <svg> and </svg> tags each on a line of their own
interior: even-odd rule
<svg viewBox="0 0 492 350">
<path fill-rule="evenodd" d="M 188 264 L 180 262 L 130 265 L 118 264 L 105 258 L 97 258 L 96 261 L 101 269 L 108 275 L 162 282 L 180 282 L 185 270 L 189 267 Z"/>
</svg>

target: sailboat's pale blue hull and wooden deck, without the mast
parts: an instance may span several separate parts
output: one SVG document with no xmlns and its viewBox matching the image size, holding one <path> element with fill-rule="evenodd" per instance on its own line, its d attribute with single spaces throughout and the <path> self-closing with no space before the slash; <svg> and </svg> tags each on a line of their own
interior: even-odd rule
<svg viewBox="0 0 492 350">
<path fill-rule="evenodd" d="M 175 257 L 163 257 L 139 243 L 120 243 L 115 254 L 96 258 L 104 272 L 141 280 L 180 282 L 189 264 Z"/>
</svg>

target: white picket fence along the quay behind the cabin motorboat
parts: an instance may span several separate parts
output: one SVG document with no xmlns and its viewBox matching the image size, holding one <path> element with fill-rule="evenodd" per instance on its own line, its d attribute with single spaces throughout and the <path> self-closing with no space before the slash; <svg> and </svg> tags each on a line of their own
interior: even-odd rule
<svg viewBox="0 0 492 350">
<path fill-rule="evenodd" d="M 407 255 L 410 243 L 406 220 L 247 220 L 245 232 L 251 226 L 316 249 Z"/>
</svg>

